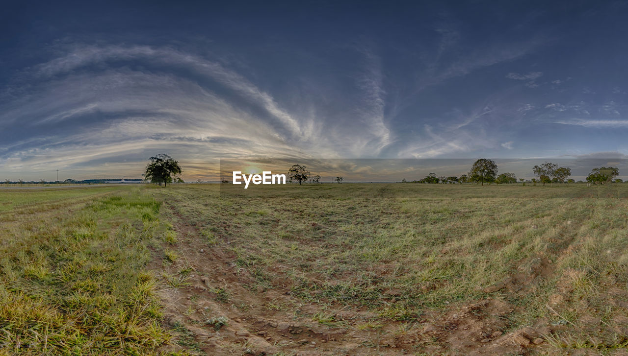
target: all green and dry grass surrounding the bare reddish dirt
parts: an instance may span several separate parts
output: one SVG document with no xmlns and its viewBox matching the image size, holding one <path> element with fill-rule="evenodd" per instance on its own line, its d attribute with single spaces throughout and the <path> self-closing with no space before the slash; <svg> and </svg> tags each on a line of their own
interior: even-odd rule
<svg viewBox="0 0 628 356">
<path fill-rule="evenodd" d="M 0 191 L 0 355 L 158 354 L 171 343 L 198 352 L 184 325 L 163 326 L 157 293 L 190 284 L 179 248 L 190 239 L 234 256 L 257 283 L 250 288 L 290 280 L 291 295 L 322 306 L 308 317 L 323 326 L 394 324 L 403 334 L 426 311 L 490 297 L 515 307 L 506 332 L 539 320 L 564 325 L 546 336 L 551 348 L 628 344 L 617 332 L 618 317 L 628 317 L 617 293 L 628 285 L 628 185 L 260 188 Z M 193 231 L 176 231 L 182 222 Z M 153 260 L 172 273 L 147 270 Z M 521 290 L 484 291 L 541 268 Z M 237 305 L 234 291 L 208 293 Z M 351 326 L 335 306 L 374 317 Z M 583 317 L 601 322 L 590 328 Z"/>
</svg>

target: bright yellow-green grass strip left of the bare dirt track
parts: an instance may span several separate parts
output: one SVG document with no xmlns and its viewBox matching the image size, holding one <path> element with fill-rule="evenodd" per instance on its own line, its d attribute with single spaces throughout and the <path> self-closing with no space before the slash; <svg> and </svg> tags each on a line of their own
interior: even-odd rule
<svg viewBox="0 0 628 356">
<path fill-rule="evenodd" d="M 0 201 L 0 353 L 139 355 L 173 342 L 144 270 L 161 229 L 152 196 L 106 187 Z"/>
</svg>

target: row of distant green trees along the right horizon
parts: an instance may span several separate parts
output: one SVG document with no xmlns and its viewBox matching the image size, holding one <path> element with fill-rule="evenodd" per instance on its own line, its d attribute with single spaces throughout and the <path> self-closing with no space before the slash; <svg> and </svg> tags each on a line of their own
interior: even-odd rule
<svg viewBox="0 0 628 356">
<path fill-rule="evenodd" d="M 536 183 L 575 183 L 571 177 L 570 167 L 560 167 L 553 162 L 544 162 L 540 165 L 534 165 L 532 171 L 536 175 L 536 178 L 531 179 L 529 182 L 536 186 Z M 471 169 L 467 174 L 462 174 L 460 177 L 451 175 L 446 177 L 445 175 L 438 176 L 435 173 L 430 173 L 423 179 L 416 181 L 406 181 L 403 179 L 402 183 L 423 183 L 423 184 L 465 184 L 475 183 L 482 184 L 512 184 L 517 182 L 517 177 L 514 173 L 502 173 L 497 175 L 497 164 L 494 160 L 479 159 L 474 162 Z M 587 176 L 587 183 L 590 184 L 611 184 L 612 182 L 621 183 L 621 179 L 616 179 L 619 175 L 619 169 L 617 167 L 598 167 L 594 168 Z M 523 178 L 519 178 L 519 182 L 525 184 Z"/>
</svg>

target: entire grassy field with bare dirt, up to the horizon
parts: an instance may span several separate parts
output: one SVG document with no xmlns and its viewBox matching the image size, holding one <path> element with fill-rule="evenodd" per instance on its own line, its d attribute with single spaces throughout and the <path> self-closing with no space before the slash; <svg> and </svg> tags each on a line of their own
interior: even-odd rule
<svg viewBox="0 0 628 356">
<path fill-rule="evenodd" d="M 623 184 L 1 191 L 0 350 L 623 355 L 627 197 Z"/>
</svg>

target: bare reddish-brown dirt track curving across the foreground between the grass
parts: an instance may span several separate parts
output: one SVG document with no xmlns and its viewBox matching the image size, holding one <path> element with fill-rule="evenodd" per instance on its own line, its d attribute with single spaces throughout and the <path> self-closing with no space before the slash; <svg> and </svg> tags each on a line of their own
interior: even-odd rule
<svg viewBox="0 0 628 356">
<path fill-rule="evenodd" d="M 172 264 L 156 258 L 149 268 L 170 275 L 191 271 L 188 286 L 163 292 L 166 320 L 187 328 L 187 345 L 208 355 L 525 355 L 551 332 L 543 321 L 534 328 L 507 330 L 504 320 L 514 307 L 495 299 L 452 305 L 447 313 L 426 312 L 412 323 L 365 309 L 306 303 L 290 295 L 293 282 L 283 266 L 272 268 L 271 288 L 253 289 L 255 276 L 234 263 L 236 255 L 220 245 L 208 247 L 175 206 L 166 203 L 165 208 L 183 237 L 176 244 L 181 258 Z M 520 291 L 543 278 L 547 264 L 539 258 L 533 271 L 489 288 Z"/>
</svg>

